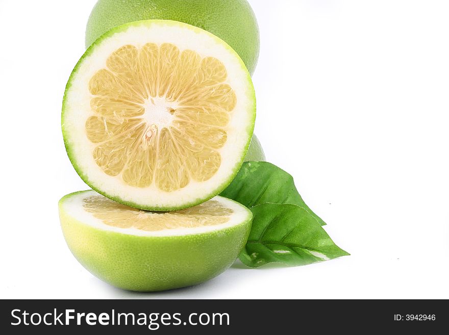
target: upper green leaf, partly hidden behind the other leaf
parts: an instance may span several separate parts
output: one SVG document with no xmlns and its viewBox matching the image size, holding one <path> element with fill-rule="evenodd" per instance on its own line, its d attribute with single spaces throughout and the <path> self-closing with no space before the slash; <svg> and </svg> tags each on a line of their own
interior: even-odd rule
<svg viewBox="0 0 449 335">
<path fill-rule="evenodd" d="M 291 203 L 303 207 L 320 224 L 326 223 L 304 202 L 293 177 L 268 162 L 245 162 L 232 183 L 221 194 L 247 208 L 262 203 Z"/>
</svg>

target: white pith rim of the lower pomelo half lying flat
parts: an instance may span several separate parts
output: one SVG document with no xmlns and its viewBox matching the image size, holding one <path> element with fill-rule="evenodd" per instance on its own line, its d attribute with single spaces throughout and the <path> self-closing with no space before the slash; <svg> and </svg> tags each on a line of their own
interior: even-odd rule
<svg viewBox="0 0 449 335">
<path fill-rule="evenodd" d="M 229 216 L 229 221 L 222 224 L 212 226 L 201 226 L 193 228 L 176 228 L 176 229 L 164 229 L 158 231 L 144 231 L 136 228 L 119 228 L 105 224 L 102 220 L 94 217 L 92 213 L 85 211 L 83 207 L 83 200 L 92 196 L 98 195 L 95 191 L 84 191 L 74 193 L 66 197 L 61 202 L 61 210 L 69 217 L 77 220 L 83 224 L 89 225 L 93 228 L 114 231 L 115 233 L 135 235 L 135 236 L 184 236 L 184 235 L 196 235 L 202 233 L 208 233 L 211 231 L 222 230 L 229 227 L 233 227 L 250 220 L 252 214 L 251 211 L 243 207 L 243 205 L 232 201 L 228 198 L 216 196 L 213 199 L 219 201 L 226 208 L 233 210 Z"/>
</svg>

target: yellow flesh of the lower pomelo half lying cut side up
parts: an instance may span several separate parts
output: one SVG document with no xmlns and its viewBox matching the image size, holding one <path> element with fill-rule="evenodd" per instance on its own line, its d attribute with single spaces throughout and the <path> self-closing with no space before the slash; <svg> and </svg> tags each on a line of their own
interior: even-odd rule
<svg viewBox="0 0 449 335">
<path fill-rule="evenodd" d="M 146 212 L 119 204 L 101 195 L 83 199 L 83 208 L 103 223 L 144 231 L 213 226 L 229 221 L 234 211 L 217 200 L 176 212 Z"/>
</svg>

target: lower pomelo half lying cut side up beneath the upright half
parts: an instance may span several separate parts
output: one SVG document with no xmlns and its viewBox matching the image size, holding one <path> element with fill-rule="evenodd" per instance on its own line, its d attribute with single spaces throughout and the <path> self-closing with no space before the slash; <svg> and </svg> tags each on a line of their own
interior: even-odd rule
<svg viewBox="0 0 449 335">
<path fill-rule="evenodd" d="M 252 213 L 216 196 L 170 213 L 136 210 L 95 191 L 63 197 L 59 213 L 73 255 L 92 274 L 132 291 L 162 291 L 211 279 L 236 260 Z"/>
</svg>

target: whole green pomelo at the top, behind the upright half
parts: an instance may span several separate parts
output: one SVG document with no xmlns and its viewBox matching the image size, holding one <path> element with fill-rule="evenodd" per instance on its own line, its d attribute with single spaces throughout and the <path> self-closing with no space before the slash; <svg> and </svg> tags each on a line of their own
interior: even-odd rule
<svg viewBox="0 0 449 335">
<path fill-rule="evenodd" d="M 259 26 L 246 0 L 99 0 L 87 22 L 86 47 L 117 25 L 148 19 L 181 21 L 209 31 L 237 51 L 254 73 Z"/>
</svg>

